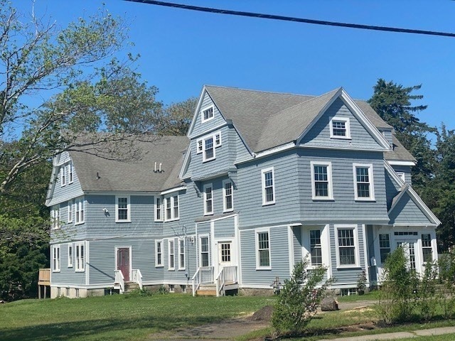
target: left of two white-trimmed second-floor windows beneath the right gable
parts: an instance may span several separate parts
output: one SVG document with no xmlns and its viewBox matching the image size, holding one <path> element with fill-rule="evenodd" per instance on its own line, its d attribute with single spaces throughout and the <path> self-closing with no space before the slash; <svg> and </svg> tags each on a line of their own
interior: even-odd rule
<svg viewBox="0 0 455 341">
<path fill-rule="evenodd" d="M 332 163 L 310 162 L 313 200 L 333 200 Z"/>
</svg>

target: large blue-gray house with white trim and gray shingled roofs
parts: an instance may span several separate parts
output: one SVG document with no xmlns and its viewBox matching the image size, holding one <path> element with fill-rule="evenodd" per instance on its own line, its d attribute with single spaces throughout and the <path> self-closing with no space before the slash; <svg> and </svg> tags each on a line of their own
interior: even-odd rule
<svg viewBox="0 0 455 341">
<path fill-rule="evenodd" d="M 134 162 L 80 150 L 53 161 L 51 297 L 271 291 L 304 257 L 350 293 L 362 271 L 380 283 L 397 247 L 417 272 L 437 259 L 415 159 L 343 88 L 205 86 L 188 137 L 135 145 L 146 153 Z"/>
</svg>

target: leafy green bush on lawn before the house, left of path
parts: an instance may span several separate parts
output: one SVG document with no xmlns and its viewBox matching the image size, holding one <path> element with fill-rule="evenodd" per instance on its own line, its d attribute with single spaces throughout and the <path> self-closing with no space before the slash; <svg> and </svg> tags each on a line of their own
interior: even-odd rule
<svg viewBox="0 0 455 341">
<path fill-rule="evenodd" d="M 307 269 L 308 258 L 294 265 L 294 271 L 279 293 L 272 314 L 272 335 L 299 335 L 311 321 L 316 308 L 326 296 L 326 288 L 333 280 L 323 281 L 326 268 Z"/>
</svg>

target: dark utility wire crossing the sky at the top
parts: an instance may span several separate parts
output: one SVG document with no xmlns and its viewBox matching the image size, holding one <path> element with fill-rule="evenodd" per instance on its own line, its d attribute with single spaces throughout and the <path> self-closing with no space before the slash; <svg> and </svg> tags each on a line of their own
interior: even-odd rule
<svg viewBox="0 0 455 341">
<path fill-rule="evenodd" d="M 296 23 L 312 23 L 315 25 L 324 25 L 324 26 L 338 26 L 338 27 L 358 28 L 358 29 L 362 29 L 362 30 L 397 32 L 397 33 L 414 33 L 414 34 L 424 34 L 427 36 L 444 36 L 444 37 L 455 38 L 455 33 L 448 33 L 448 32 L 412 30 L 410 28 L 396 28 L 396 27 L 387 27 L 387 26 L 360 25 L 358 23 L 338 23 L 336 21 L 321 21 L 321 20 L 313 20 L 313 19 L 305 19 L 305 18 L 294 18 L 292 16 L 275 16 L 273 14 L 263 14 L 263 13 L 253 13 L 253 12 L 243 12 L 243 11 L 230 11 L 228 9 L 212 9 L 210 7 L 191 6 L 191 5 L 184 5 L 184 4 L 173 4 L 171 2 L 154 1 L 154 0 L 124 0 L 124 1 L 140 2 L 143 4 L 149 4 L 149 5 L 174 7 L 176 9 L 189 9 L 191 11 L 200 11 L 200 12 L 218 13 L 218 14 L 230 14 L 232 16 L 249 16 L 251 18 L 265 18 L 265 19 L 281 20 L 281 21 L 294 21 Z"/>
</svg>

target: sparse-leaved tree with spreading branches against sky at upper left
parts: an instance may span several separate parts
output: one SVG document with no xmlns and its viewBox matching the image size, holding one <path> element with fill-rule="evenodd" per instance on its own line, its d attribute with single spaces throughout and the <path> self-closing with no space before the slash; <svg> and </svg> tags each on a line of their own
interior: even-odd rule
<svg viewBox="0 0 455 341">
<path fill-rule="evenodd" d="M 106 141 L 154 132 L 156 87 L 141 82 L 132 55 L 114 58 L 126 42 L 124 21 L 106 9 L 59 30 L 0 0 L 0 194 L 27 168 L 77 147 L 80 134 L 97 153 Z"/>
</svg>

